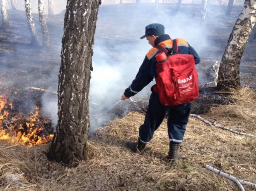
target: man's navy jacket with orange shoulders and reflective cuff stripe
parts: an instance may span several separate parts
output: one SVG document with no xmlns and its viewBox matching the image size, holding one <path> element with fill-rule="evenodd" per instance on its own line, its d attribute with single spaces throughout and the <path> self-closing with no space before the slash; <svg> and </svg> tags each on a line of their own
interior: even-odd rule
<svg viewBox="0 0 256 191">
<path fill-rule="evenodd" d="M 172 48 L 172 41 L 169 35 L 161 35 L 155 40 L 155 45 L 162 45 L 167 50 Z M 191 47 L 188 42 L 181 38 L 177 38 L 178 53 L 180 54 L 192 54 L 195 58 L 195 64 L 200 62 L 200 58 L 196 51 Z M 153 47 L 147 53 L 140 69 L 133 80 L 132 84 L 125 90 L 124 95 L 126 97 L 131 97 L 140 92 L 146 85 L 148 85 L 153 78 L 157 78 L 157 60 L 155 58 L 156 54 L 160 51 Z"/>
</svg>

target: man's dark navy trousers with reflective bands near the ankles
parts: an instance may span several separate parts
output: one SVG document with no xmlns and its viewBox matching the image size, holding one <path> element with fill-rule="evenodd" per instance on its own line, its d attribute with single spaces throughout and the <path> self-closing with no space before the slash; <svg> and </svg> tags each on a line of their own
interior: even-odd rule
<svg viewBox="0 0 256 191">
<path fill-rule="evenodd" d="M 169 140 L 171 143 L 181 144 L 186 131 L 190 111 L 190 103 L 169 107 L 163 106 L 160 103 L 159 94 L 152 92 L 144 124 L 141 125 L 139 129 L 140 140 L 143 143 L 149 142 L 168 112 L 167 127 Z"/>
</svg>

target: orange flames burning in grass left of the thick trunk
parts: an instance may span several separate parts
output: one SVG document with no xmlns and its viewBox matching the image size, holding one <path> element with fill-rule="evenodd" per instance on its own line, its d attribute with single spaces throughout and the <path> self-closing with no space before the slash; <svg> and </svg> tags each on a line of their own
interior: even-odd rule
<svg viewBox="0 0 256 191">
<path fill-rule="evenodd" d="M 2 110 L 5 110 L 2 112 Z M 29 117 L 21 113 L 12 118 L 8 117 L 8 110 L 12 110 L 12 102 L 6 95 L 0 95 L 0 140 L 9 141 L 12 144 L 19 142 L 22 145 L 34 146 L 48 143 L 53 134 L 48 134 L 43 123 L 50 123 L 50 120 L 39 120 L 39 107 Z M 3 114 L 2 114 L 3 113 Z"/>
</svg>

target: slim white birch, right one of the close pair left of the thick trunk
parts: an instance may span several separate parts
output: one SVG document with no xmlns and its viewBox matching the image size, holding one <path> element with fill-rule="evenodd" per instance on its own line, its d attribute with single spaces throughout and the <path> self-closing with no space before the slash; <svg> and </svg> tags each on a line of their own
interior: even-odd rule
<svg viewBox="0 0 256 191">
<path fill-rule="evenodd" d="M 43 35 L 43 46 L 50 46 L 50 37 L 44 15 L 44 0 L 38 0 L 39 21 Z"/>
</svg>

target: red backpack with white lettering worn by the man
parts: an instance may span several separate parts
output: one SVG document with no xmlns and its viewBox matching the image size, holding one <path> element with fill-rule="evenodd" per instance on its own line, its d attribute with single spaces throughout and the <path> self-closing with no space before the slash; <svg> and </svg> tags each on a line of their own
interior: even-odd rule
<svg viewBox="0 0 256 191">
<path fill-rule="evenodd" d="M 157 78 L 154 92 L 159 92 L 164 106 L 174 106 L 195 101 L 199 97 L 198 74 L 195 59 L 191 54 L 179 54 L 176 39 L 172 40 L 173 49 L 168 51 L 162 46 L 156 55 Z"/>
</svg>

